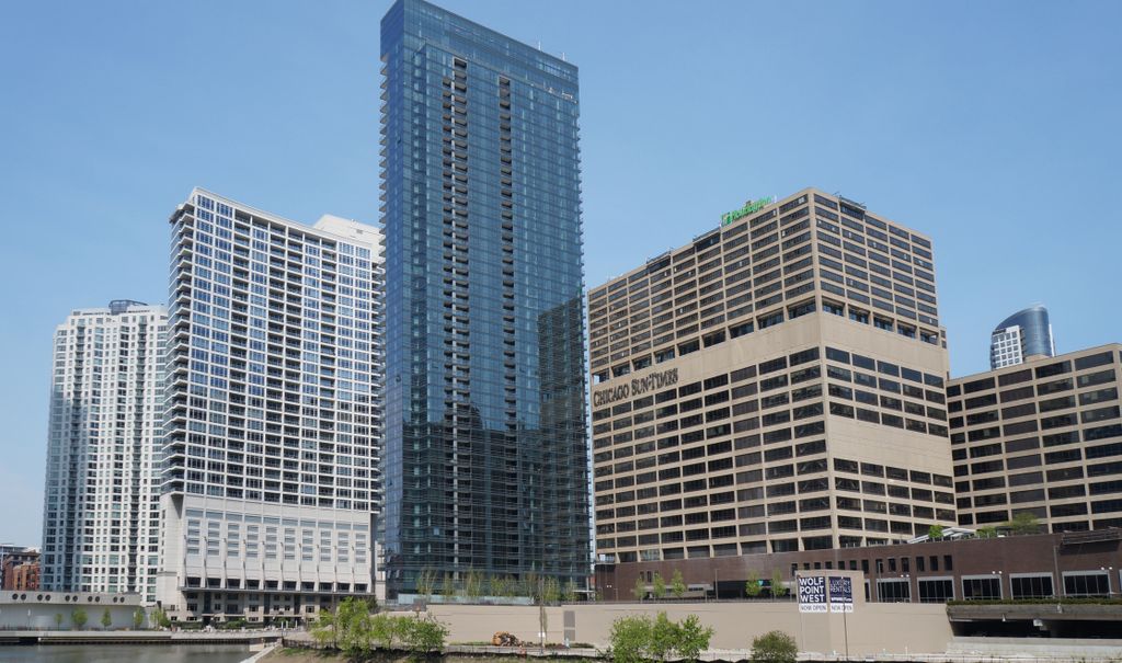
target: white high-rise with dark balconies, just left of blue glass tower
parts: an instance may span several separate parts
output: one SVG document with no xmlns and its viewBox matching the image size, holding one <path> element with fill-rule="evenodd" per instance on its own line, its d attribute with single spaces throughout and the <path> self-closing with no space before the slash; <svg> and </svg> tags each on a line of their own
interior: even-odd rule
<svg viewBox="0 0 1122 663">
<path fill-rule="evenodd" d="M 370 592 L 380 231 L 200 190 L 169 221 L 159 600 L 258 620 Z"/>
</svg>

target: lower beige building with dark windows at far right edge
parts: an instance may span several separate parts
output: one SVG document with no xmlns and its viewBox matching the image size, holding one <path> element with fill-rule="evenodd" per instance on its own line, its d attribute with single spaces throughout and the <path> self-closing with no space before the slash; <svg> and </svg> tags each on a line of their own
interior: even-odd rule
<svg viewBox="0 0 1122 663">
<path fill-rule="evenodd" d="M 948 383 L 959 524 L 999 526 L 1029 513 L 1051 532 L 1122 527 L 1120 350 Z"/>
</svg>

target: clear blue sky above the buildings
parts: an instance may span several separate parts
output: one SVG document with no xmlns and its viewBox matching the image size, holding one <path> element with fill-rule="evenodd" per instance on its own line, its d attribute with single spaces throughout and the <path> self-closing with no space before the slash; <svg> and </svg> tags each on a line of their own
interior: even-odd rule
<svg viewBox="0 0 1122 663">
<path fill-rule="evenodd" d="M 0 20 L 0 541 L 39 543 L 50 338 L 163 303 L 192 186 L 377 223 L 387 0 L 10 0 Z M 445 0 L 580 67 L 589 286 L 806 186 L 935 239 L 953 375 L 1045 303 L 1122 340 L 1122 3 Z"/>
</svg>

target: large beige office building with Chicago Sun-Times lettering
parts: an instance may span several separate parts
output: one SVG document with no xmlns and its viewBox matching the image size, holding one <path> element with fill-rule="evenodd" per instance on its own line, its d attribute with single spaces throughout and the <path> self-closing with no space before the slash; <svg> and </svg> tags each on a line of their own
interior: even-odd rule
<svg viewBox="0 0 1122 663">
<path fill-rule="evenodd" d="M 589 295 L 597 552 L 820 550 L 954 524 L 929 238 L 808 188 Z"/>
</svg>

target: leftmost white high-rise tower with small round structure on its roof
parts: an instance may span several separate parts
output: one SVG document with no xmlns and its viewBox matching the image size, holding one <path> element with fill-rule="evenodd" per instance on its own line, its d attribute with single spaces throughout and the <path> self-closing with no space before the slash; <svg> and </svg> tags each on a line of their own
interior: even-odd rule
<svg viewBox="0 0 1122 663">
<path fill-rule="evenodd" d="M 81 309 L 55 330 L 43 588 L 155 600 L 167 312 Z"/>
</svg>

